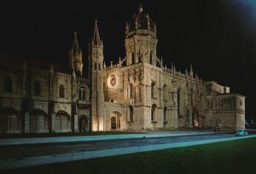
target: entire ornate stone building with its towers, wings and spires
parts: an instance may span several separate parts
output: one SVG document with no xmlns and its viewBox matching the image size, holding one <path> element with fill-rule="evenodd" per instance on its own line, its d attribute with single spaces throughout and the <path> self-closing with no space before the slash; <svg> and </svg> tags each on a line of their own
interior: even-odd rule
<svg viewBox="0 0 256 174">
<path fill-rule="evenodd" d="M 1 64 L 0 133 L 244 128 L 245 97 L 169 69 L 157 57 L 156 25 L 139 8 L 126 24 L 125 58 L 107 67 L 97 22 L 84 67 L 77 33 L 69 66 Z M 84 76 L 88 70 L 88 77 Z"/>
</svg>

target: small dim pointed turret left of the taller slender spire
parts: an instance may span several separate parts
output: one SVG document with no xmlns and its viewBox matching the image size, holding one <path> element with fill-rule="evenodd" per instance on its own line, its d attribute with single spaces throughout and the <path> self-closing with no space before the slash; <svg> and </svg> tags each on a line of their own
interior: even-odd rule
<svg viewBox="0 0 256 174">
<path fill-rule="evenodd" d="M 79 48 L 78 34 L 75 31 L 73 45 L 69 52 L 69 67 L 75 70 L 78 75 L 83 74 L 82 50 Z"/>
</svg>

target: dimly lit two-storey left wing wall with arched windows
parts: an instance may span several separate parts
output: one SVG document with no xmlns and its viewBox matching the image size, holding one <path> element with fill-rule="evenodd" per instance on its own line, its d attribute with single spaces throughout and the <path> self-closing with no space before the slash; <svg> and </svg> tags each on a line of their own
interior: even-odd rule
<svg viewBox="0 0 256 174">
<path fill-rule="evenodd" d="M 4 88 L 7 76 L 11 79 L 9 91 Z M 60 86 L 64 87 L 63 96 L 60 96 Z M 86 89 L 84 101 L 79 101 L 79 87 Z M 9 127 L 9 123 L 3 123 L 6 127 L 3 132 L 79 132 L 79 116 L 86 115 L 89 118 L 90 115 L 89 89 L 88 80 L 84 77 L 78 76 L 74 79 L 72 73 L 59 72 L 50 64 L 44 68 L 37 68 L 37 65 L 31 66 L 25 61 L 2 64 L 0 68 L 1 115 L 17 115 L 19 121 L 18 129 L 13 126 L 15 130 Z M 74 107 L 72 107 L 73 104 Z M 55 129 L 56 113 L 67 115 L 68 127 L 65 126 L 65 130 Z M 32 123 L 33 115 L 45 115 L 45 122 Z M 45 124 L 44 129 L 42 124 Z M 90 122 L 88 121 L 87 124 L 89 127 Z M 41 126 L 40 130 L 37 130 L 37 126 Z"/>
</svg>

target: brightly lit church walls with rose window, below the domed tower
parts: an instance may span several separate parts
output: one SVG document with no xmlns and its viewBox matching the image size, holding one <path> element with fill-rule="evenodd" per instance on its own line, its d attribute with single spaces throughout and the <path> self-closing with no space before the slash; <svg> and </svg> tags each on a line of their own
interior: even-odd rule
<svg viewBox="0 0 256 174">
<path fill-rule="evenodd" d="M 204 85 L 198 77 L 140 63 L 108 67 L 104 70 L 104 81 L 105 101 L 123 107 L 125 130 L 171 130 L 193 127 L 194 121 L 196 126 L 202 126 Z M 200 99 L 195 101 L 195 98 Z M 193 103 L 198 109 L 196 118 L 192 117 Z M 134 110 L 133 121 L 129 119 L 129 107 Z M 107 110 L 105 115 L 111 115 L 112 111 Z"/>
</svg>

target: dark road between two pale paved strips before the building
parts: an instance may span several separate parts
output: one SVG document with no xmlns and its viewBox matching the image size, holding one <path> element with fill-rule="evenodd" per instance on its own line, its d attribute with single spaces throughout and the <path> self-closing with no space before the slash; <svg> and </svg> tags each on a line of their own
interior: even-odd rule
<svg viewBox="0 0 256 174">
<path fill-rule="evenodd" d="M 216 138 L 231 138 L 234 134 L 210 134 L 210 135 L 187 135 L 177 137 L 159 137 L 159 138 L 129 138 L 102 140 L 93 142 L 79 143 L 43 143 L 43 144 L 24 144 L 2 146 L 0 149 L 0 160 L 20 159 L 26 157 L 79 153 L 86 151 L 96 151 L 103 149 L 120 149 L 138 146 L 148 146 L 166 143 L 190 142 L 196 140 L 207 140 Z"/>
</svg>

